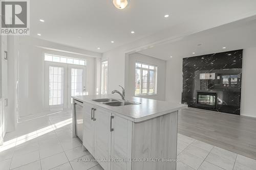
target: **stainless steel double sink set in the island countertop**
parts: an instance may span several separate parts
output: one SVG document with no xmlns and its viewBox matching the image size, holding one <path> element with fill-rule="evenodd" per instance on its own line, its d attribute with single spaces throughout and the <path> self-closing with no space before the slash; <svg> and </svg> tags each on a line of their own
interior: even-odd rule
<svg viewBox="0 0 256 170">
<path fill-rule="evenodd" d="M 129 101 L 121 101 L 112 98 L 105 98 L 105 99 L 94 99 L 93 101 L 102 103 L 104 105 L 109 106 L 126 106 L 126 105 L 138 105 L 138 102 L 129 102 Z"/>
</svg>

